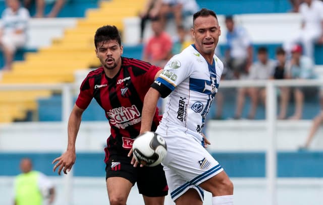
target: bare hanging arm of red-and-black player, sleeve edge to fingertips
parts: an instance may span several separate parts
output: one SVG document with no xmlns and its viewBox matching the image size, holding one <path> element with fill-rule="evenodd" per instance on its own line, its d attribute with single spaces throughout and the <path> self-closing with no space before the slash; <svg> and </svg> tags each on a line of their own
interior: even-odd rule
<svg viewBox="0 0 323 205">
<path fill-rule="evenodd" d="M 67 171 L 72 169 L 72 166 L 76 160 L 75 154 L 75 142 L 77 133 L 80 128 L 83 109 L 79 108 L 77 105 L 74 105 L 71 112 L 69 122 L 68 122 L 68 145 L 67 150 L 60 157 L 53 160 L 52 164 L 57 164 L 54 166 L 53 171 L 55 172 L 58 168 L 58 174 L 61 175 L 61 171 L 67 174 Z"/>
</svg>

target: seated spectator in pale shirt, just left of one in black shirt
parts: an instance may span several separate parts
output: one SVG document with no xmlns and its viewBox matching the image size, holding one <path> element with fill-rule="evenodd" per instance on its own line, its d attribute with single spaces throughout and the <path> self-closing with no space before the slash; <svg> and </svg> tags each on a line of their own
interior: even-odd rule
<svg viewBox="0 0 323 205">
<path fill-rule="evenodd" d="M 275 69 L 275 61 L 268 59 L 268 53 L 266 47 L 258 48 L 258 61 L 254 62 L 250 67 L 250 72 L 248 79 L 249 80 L 268 80 L 271 78 L 274 69 Z M 251 98 L 251 108 L 249 110 L 248 119 L 254 119 L 257 105 L 258 105 L 258 97 L 265 104 L 266 99 L 266 91 L 264 88 L 240 88 L 238 90 L 237 97 L 237 109 L 235 113 L 235 119 L 240 119 L 242 114 L 242 109 L 245 102 L 245 95 L 249 95 Z"/>
</svg>

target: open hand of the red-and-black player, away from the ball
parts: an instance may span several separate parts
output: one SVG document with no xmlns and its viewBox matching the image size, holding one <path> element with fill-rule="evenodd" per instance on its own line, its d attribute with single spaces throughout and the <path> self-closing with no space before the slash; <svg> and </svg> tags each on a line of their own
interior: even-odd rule
<svg viewBox="0 0 323 205">
<path fill-rule="evenodd" d="M 72 166 L 74 165 L 76 160 L 76 154 L 75 151 L 66 151 L 61 155 L 61 157 L 56 158 L 54 161 L 52 161 L 52 164 L 57 164 L 53 168 L 53 172 L 56 171 L 58 168 L 58 174 L 61 175 L 61 171 L 63 170 L 64 174 L 67 174 L 67 171 L 70 171 L 72 169 Z"/>
</svg>

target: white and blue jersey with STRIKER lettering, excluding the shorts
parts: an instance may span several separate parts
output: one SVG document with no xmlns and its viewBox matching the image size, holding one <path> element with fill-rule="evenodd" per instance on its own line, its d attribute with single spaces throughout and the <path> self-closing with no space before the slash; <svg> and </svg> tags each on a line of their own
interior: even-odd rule
<svg viewBox="0 0 323 205">
<path fill-rule="evenodd" d="M 162 136 L 184 132 L 202 143 L 200 133 L 218 92 L 222 72 L 223 63 L 215 54 L 211 65 L 193 44 L 174 55 L 151 85 L 161 97 L 169 95 L 156 132 Z"/>
</svg>

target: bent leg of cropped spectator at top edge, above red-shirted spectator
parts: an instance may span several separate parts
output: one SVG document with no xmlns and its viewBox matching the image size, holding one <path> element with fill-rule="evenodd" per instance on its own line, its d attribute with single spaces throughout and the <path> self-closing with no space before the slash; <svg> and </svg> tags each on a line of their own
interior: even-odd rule
<svg viewBox="0 0 323 205">
<path fill-rule="evenodd" d="M 143 10 L 140 12 L 140 43 L 143 42 L 144 30 L 147 20 L 159 15 L 162 0 L 147 0 Z"/>
</svg>

